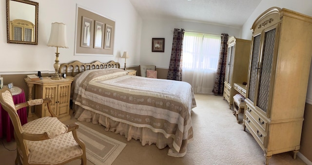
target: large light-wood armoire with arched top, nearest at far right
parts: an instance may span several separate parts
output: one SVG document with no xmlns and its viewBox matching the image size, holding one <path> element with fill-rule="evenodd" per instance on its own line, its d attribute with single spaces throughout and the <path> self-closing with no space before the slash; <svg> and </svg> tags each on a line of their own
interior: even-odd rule
<svg viewBox="0 0 312 165">
<path fill-rule="evenodd" d="M 272 7 L 252 26 L 243 125 L 273 154 L 300 149 L 312 55 L 312 17 Z"/>
</svg>

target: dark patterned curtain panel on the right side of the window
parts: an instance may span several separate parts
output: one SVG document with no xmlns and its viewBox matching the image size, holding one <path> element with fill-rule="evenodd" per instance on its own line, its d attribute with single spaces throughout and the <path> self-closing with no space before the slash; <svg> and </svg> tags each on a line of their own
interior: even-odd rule
<svg viewBox="0 0 312 165">
<path fill-rule="evenodd" d="M 226 60 L 228 55 L 228 39 L 229 34 L 222 33 L 221 34 L 221 47 L 220 47 L 220 55 L 218 61 L 218 67 L 215 74 L 215 86 L 213 93 L 215 95 L 223 95 L 223 83 L 225 77 L 226 70 Z"/>
</svg>

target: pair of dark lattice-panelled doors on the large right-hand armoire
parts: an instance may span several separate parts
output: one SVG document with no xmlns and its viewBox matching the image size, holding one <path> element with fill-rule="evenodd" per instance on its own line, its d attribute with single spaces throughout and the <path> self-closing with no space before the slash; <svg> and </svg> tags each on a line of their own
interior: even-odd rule
<svg viewBox="0 0 312 165">
<path fill-rule="evenodd" d="M 275 38 L 276 28 L 265 30 L 261 50 L 261 35 L 254 36 L 248 99 L 265 113 L 268 112 L 270 87 L 272 87 Z"/>
</svg>

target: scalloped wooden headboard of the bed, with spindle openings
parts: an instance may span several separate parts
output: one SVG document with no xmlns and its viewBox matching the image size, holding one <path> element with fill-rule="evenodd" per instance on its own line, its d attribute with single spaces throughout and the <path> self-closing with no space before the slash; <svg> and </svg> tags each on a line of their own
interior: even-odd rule
<svg viewBox="0 0 312 165">
<path fill-rule="evenodd" d="M 74 61 L 69 64 L 61 64 L 59 67 L 59 73 L 66 73 L 68 76 L 75 76 L 80 72 L 91 70 L 91 69 L 102 69 L 102 68 L 120 68 L 120 64 L 115 61 L 110 61 L 108 63 L 101 63 L 99 61 L 95 61 L 93 63 L 81 63 L 79 61 Z"/>
</svg>

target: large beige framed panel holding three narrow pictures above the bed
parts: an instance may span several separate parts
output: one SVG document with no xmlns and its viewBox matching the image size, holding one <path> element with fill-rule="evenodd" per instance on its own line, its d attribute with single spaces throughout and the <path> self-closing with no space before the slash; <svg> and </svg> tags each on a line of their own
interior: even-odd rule
<svg viewBox="0 0 312 165">
<path fill-rule="evenodd" d="M 76 6 L 74 55 L 113 56 L 116 21 Z"/>
</svg>

